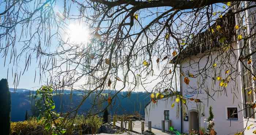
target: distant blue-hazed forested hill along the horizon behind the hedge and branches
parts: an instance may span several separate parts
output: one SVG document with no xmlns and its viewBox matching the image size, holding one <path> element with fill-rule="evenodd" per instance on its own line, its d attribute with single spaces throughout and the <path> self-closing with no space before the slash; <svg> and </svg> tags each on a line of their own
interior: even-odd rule
<svg viewBox="0 0 256 135">
<path fill-rule="evenodd" d="M 35 108 L 35 100 L 33 95 L 35 91 L 28 89 L 9 89 L 11 92 L 11 121 L 22 121 L 25 119 L 26 110 L 29 112 L 29 115 L 37 115 Z M 114 90 L 104 90 L 102 92 L 102 98 L 107 97 L 108 94 L 114 95 L 116 91 Z M 53 96 L 57 112 L 67 112 L 76 107 L 80 101 L 83 99 L 83 96 L 86 95 L 85 92 L 72 91 L 71 90 L 61 90 L 57 91 Z M 86 113 L 88 110 L 91 110 L 93 100 L 97 92 L 93 93 L 88 99 L 83 103 L 82 107 L 79 109 L 79 113 Z M 126 97 L 128 96 L 128 97 Z M 113 99 L 112 106 L 109 107 L 109 113 L 111 114 L 131 114 L 135 111 L 138 111 L 141 115 L 144 115 L 144 106 L 150 101 L 150 97 L 146 92 L 131 92 L 128 95 L 128 92 L 120 92 L 117 94 L 117 97 Z M 97 102 L 97 101 L 96 101 Z M 99 110 L 106 107 L 108 103 L 105 102 L 101 105 L 97 105 L 94 110 Z"/>
</svg>

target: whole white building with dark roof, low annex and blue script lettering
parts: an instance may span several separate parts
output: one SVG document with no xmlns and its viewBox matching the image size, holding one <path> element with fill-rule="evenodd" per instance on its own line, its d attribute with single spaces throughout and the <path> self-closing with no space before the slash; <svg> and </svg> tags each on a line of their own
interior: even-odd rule
<svg viewBox="0 0 256 135">
<path fill-rule="evenodd" d="M 246 2 L 241 2 L 241 4 L 244 3 L 246 4 Z M 250 10 L 251 11 L 246 10 L 245 12 L 241 12 L 237 14 L 236 17 L 231 15 L 226 18 L 223 16 L 223 18 L 228 19 L 227 22 L 229 23 L 221 21 L 212 25 L 213 27 L 220 25 L 222 28 L 229 28 L 225 29 L 223 33 L 229 36 L 226 37 L 227 41 L 232 42 L 231 47 L 234 48 L 232 55 L 228 53 L 228 48 L 207 45 L 207 39 L 200 38 L 209 32 L 206 31 L 197 35 L 198 38 L 196 42 L 200 42 L 201 44 L 190 45 L 182 52 L 186 55 L 182 54 L 182 58 L 175 59 L 180 65 L 180 72 L 184 75 L 180 76 L 180 90 L 181 95 L 188 99 L 186 110 L 181 108 L 181 101 L 179 105 L 176 103 L 173 108 L 171 107 L 171 104 L 175 102 L 176 96 L 166 97 L 158 100 L 155 104 L 151 102 L 145 107 L 146 122 L 151 121 L 153 128 L 161 129 L 161 121 L 169 119 L 172 121 L 172 126 L 183 133 L 188 133 L 191 129 L 199 130 L 199 128 L 203 127 L 206 129 L 207 124 L 204 123 L 204 119 L 208 118 L 208 108 L 212 106 L 215 123 L 214 129 L 218 135 L 234 135 L 237 132 L 244 131 L 244 129 L 251 124 L 253 125 L 250 126 L 249 130 L 246 129 L 244 134 L 254 135 L 252 132 L 256 130 L 256 119 L 254 114 L 255 110 L 251 108 L 251 106 L 252 103 L 255 103 L 255 93 L 248 94 L 248 92 L 254 89 L 255 86 L 253 77 L 245 69 L 245 66 L 252 69 L 251 66 L 255 66 L 255 61 L 252 59 L 251 66 L 248 65 L 247 60 L 244 60 L 244 65 L 238 61 L 240 53 L 244 54 L 246 51 L 241 52 L 241 47 L 245 41 L 236 40 L 237 35 L 244 35 L 242 32 L 252 32 L 252 30 L 250 30 L 250 23 L 255 23 L 255 21 L 248 19 L 242 20 L 241 18 L 243 17 L 238 17 L 238 15 L 243 15 L 242 13 L 247 17 L 251 16 L 250 12 L 255 11 Z M 254 15 L 255 14 L 253 14 L 253 16 Z M 247 29 L 242 30 L 242 28 L 240 28 L 235 30 L 236 25 L 241 25 L 239 23 L 241 20 L 242 23 L 247 26 Z M 234 32 L 234 34 L 232 32 Z M 255 46 L 255 44 L 253 44 L 255 42 L 251 39 L 248 43 L 250 47 Z M 220 53 L 221 51 L 217 51 L 223 48 L 226 49 L 226 54 L 225 51 L 223 51 L 223 54 Z M 247 50 L 250 51 L 250 53 L 252 52 L 252 48 Z M 223 55 L 230 56 L 223 57 Z M 229 70 L 229 73 L 225 73 L 227 70 Z M 197 76 L 199 72 L 200 76 Z M 189 74 L 193 74 L 195 78 L 189 77 Z M 230 74 L 230 77 L 234 78 L 234 80 L 229 80 L 226 87 L 220 86 L 221 81 L 218 80 L 217 77 L 220 76 L 223 79 L 228 79 L 230 78 Z M 184 82 L 185 77 L 189 78 L 189 85 Z M 192 99 L 200 99 L 202 102 L 197 103 L 195 100 L 192 101 Z M 186 113 L 187 117 L 184 117 L 182 113 Z M 168 130 L 168 128 L 167 126 L 165 127 L 166 130 Z"/>
</svg>

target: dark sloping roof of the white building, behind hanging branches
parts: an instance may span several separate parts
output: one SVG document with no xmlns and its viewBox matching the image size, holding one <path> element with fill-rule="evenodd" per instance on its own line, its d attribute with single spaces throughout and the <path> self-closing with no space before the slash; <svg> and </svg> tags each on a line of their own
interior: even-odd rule
<svg viewBox="0 0 256 135">
<path fill-rule="evenodd" d="M 226 43 L 233 42 L 236 35 L 235 25 L 235 15 L 230 10 L 223 15 L 222 18 L 216 20 L 216 22 L 211 25 L 210 29 L 194 36 L 189 45 L 181 51 L 180 55 L 176 55 L 176 57 L 172 59 L 172 63 L 176 61 L 182 62 L 184 58 L 204 53 L 204 51 L 211 50 L 215 47 L 221 47 L 219 41 L 223 40 L 223 38 L 225 38 L 224 42 Z"/>
</svg>

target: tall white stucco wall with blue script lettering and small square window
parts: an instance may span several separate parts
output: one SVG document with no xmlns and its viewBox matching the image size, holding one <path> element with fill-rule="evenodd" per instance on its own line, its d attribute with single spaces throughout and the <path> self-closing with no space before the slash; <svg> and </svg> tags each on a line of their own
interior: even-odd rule
<svg viewBox="0 0 256 135">
<path fill-rule="evenodd" d="M 234 44 L 233 44 L 234 46 Z M 242 109 L 242 96 L 241 96 L 241 79 L 240 77 L 232 77 L 236 78 L 236 81 L 229 82 L 226 88 L 219 86 L 219 81 L 212 78 L 217 78 L 217 76 L 221 76 L 222 78 L 226 78 L 228 74 L 225 74 L 227 69 L 230 69 L 230 73 L 232 67 L 222 66 L 219 67 L 218 63 L 223 59 L 217 58 L 217 52 L 211 53 L 211 59 L 207 62 L 207 55 L 202 59 L 199 58 L 204 54 L 197 54 L 197 56 L 192 56 L 192 61 L 189 59 L 185 59 L 181 64 L 181 70 L 188 77 L 188 73 L 198 74 L 199 70 L 202 70 L 203 67 L 211 67 L 213 63 L 217 63 L 216 68 L 210 68 L 206 71 L 203 71 L 201 74 L 207 76 L 197 76 L 196 78 L 189 77 L 189 85 L 185 84 L 184 76 L 181 76 L 181 91 L 182 95 L 188 98 L 200 99 L 202 103 L 195 103 L 195 101 L 187 101 L 188 111 L 198 110 L 199 106 L 201 107 L 201 112 L 199 116 L 199 127 L 207 128 L 206 123 L 204 123 L 204 119 L 208 117 L 208 108 L 210 105 L 213 108 L 214 113 L 214 123 L 215 130 L 218 135 L 228 135 L 231 133 L 236 133 L 238 131 L 242 131 L 244 128 L 243 125 L 243 112 L 238 112 L 238 120 L 228 120 L 227 119 L 227 110 L 226 107 L 237 107 L 238 111 Z M 219 57 L 219 56 L 218 56 Z M 199 67 L 196 62 L 199 62 Z M 230 63 L 234 63 L 236 65 L 237 60 L 235 57 L 231 57 L 229 60 Z M 194 63 L 193 65 L 190 65 Z M 190 66 L 189 66 L 190 65 Z M 236 73 L 234 73 L 236 74 Z M 236 74 L 236 76 L 238 76 Z M 206 77 L 205 82 L 203 83 L 203 78 Z M 203 85 L 201 85 L 203 84 Z M 201 85 L 201 86 L 200 86 Z M 192 92 L 193 90 L 197 91 L 197 94 L 189 95 L 187 92 Z M 207 96 L 207 91 L 210 95 L 214 95 L 212 98 Z M 188 95 L 187 95 L 188 94 Z M 202 115 L 204 114 L 204 116 Z M 183 121 L 183 132 L 189 132 L 189 121 Z"/>
</svg>

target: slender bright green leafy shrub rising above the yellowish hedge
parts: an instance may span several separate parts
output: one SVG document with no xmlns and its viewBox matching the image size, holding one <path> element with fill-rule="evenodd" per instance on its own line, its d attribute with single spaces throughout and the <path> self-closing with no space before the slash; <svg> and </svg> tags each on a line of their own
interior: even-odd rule
<svg viewBox="0 0 256 135">
<path fill-rule="evenodd" d="M 44 129 L 52 135 L 64 134 L 66 132 L 66 129 L 64 128 L 65 120 L 63 117 L 60 117 L 59 113 L 53 111 L 55 103 L 53 101 L 52 86 L 42 86 L 39 88 L 35 95 L 35 99 L 37 99 L 35 105 L 40 110 L 37 120 L 43 121 Z"/>
</svg>

